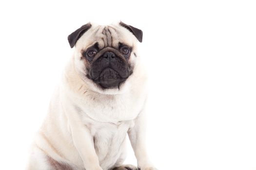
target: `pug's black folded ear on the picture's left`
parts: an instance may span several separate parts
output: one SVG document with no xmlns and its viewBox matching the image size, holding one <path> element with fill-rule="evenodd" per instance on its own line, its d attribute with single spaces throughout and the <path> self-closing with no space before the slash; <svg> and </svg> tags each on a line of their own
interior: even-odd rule
<svg viewBox="0 0 256 170">
<path fill-rule="evenodd" d="M 87 24 L 81 26 L 79 29 L 77 29 L 72 34 L 68 35 L 68 42 L 69 42 L 70 47 L 73 48 L 76 45 L 76 43 L 79 40 L 79 38 L 86 31 L 88 31 L 91 27 L 92 27 L 92 24 L 90 22 L 88 22 Z"/>
</svg>

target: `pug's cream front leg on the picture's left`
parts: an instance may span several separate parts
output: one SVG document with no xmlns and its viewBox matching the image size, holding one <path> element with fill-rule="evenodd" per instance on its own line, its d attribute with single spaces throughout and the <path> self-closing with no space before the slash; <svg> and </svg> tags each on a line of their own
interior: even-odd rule
<svg viewBox="0 0 256 170">
<path fill-rule="evenodd" d="M 102 170 L 99 166 L 98 156 L 94 148 L 93 136 L 90 130 L 81 122 L 75 108 L 66 110 L 69 131 L 72 134 L 73 143 L 83 161 L 85 170 Z"/>
</svg>

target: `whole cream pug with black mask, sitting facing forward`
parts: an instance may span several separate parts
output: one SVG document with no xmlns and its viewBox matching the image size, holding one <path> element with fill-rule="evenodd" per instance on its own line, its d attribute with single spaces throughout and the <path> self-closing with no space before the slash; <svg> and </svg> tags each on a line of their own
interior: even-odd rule
<svg viewBox="0 0 256 170">
<path fill-rule="evenodd" d="M 50 102 L 26 170 L 157 170 L 145 146 L 147 76 L 142 31 L 87 23 L 68 36 L 74 54 Z M 123 165 L 128 134 L 138 166 Z"/>
</svg>

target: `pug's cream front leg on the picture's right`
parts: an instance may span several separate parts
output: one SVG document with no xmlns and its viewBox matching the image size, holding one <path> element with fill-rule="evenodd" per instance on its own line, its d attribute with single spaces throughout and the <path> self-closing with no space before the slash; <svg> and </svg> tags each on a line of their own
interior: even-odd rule
<svg viewBox="0 0 256 170">
<path fill-rule="evenodd" d="M 131 141 L 139 170 L 157 170 L 148 158 L 145 146 L 146 119 L 143 109 L 135 119 L 135 126 L 130 128 L 128 136 Z"/>
</svg>

